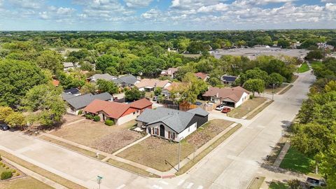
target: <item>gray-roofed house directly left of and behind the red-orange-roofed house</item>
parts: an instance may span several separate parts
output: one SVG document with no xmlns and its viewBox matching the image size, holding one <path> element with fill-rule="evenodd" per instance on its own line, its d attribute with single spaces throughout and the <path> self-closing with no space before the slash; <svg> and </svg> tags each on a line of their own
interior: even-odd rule
<svg viewBox="0 0 336 189">
<path fill-rule="evenodd" d="M 83 94 L 83 95 L 72 95 L 64 93 L 62 95 L 64 101 L 69 104 L 69 108 L 66 109 L 66 112 L 78 115 L 78 111 L 83 110 L 87 105 L 93 102 L 95 99 L 100 99 L 103 101 L 111 101 L 113 97 L 108 92 L 101 94 Z"/>
</svg>

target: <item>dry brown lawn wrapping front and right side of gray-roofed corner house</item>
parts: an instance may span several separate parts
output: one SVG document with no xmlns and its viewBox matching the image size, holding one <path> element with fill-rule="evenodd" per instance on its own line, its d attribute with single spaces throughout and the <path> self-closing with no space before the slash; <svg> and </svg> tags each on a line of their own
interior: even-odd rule
<svg viewBox="0 0 336 189">
<path fill-rule="evenodd" d="M 193 153 L 194 149 L 200 148 L 217 134 L 223 132 L 232 123 L 227 120 L 211 120 L 198 128 L 197 131 L 181 141 L 181 160 Z M 117 156 L 166 172 L 172 169 L 171 165 L 177 165 L 179 161 L 178 151 L 179 144 L 175 142 L 149 137 L 118 153 Z M 165 164 L 165 160 L 171 165 Z"/>
</svg>

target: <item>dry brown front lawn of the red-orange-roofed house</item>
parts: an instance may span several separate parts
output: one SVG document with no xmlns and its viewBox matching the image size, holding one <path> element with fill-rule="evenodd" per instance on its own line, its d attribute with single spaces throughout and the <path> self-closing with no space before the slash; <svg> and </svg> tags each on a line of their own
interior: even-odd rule
<svg viewBox="0 0 336 189">
<path fill-rule="evenodd" d="M 73 118 L 71 120 L 73 120 Z M 69 123 L 71 122 L 64 123 L 64 126 L 50 132 L 50 134 L 84 146 L 89 146 L 90 148 L 96 148 L 106 153 L 114 153 L 120 148 L 144 137 L 144 135 L 139 132 L 129 130 L 130 127 L 135 125 L 134 120 L 118 126 L 107 126 L 102 122 L 94 122 L 92 120 L 82 120 L 78 123 L 67 125 Z"/>
</svg>

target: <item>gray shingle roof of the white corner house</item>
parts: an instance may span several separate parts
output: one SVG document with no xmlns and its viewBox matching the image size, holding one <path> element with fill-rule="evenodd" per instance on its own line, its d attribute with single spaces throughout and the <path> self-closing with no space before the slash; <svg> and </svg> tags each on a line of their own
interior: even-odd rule
<svg viewBox="0 0 336 189">
<path fill-rule="evenodd" d="M 143 113 L 136 119 L 138 121 L 151 125 L 153 123 L 162 122 L 177 133 L 183 132 L 190 126 L 190 121 L 195 116 L 195 113 L 186 111 L 177 111 L 174 109 L 158 108 L 145 109 Z"/>
</svg>

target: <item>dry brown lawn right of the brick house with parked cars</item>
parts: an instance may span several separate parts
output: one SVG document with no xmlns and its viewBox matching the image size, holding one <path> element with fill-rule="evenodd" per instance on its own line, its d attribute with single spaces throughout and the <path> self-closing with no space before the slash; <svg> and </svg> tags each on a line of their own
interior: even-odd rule
<svg viewBox="0 0 336 189">
<path fill-rule="evenodd" d="M 242 118 L 246 116 L 246 114 L 250 113 L 255 108 L 257 108 L 260 104 L 264 103 L 265 101 L 267 101 L 267 99 L 262 97 L 255 97 L 253 99 L 248 99 L 238 108 L 232 109 L 232 111 L 228 113 L 228 116 L 232 118 Z"/>
</svg>

